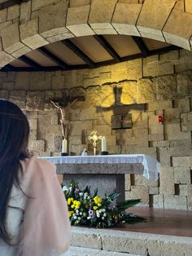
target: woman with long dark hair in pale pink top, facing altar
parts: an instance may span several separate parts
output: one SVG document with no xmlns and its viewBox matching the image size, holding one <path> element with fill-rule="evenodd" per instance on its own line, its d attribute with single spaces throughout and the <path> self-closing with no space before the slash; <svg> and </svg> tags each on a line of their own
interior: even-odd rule
<svg viewBox="0 0 192 256">
<path fill-rule="evenodd" d="M 0 99 L 0 254 L 66 255 L 68 206 L 55 166 L 28 154 L 28 120 Z"/>
</svg>

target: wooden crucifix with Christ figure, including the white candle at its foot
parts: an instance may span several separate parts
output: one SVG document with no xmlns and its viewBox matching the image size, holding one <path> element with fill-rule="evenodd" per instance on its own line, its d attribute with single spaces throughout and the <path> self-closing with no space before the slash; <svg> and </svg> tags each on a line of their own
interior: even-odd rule
<svg viewBox="0 0 192 256">
<path fill-rule="evenodd" d="M 59 109 L 60 113 L 60 124 L 62 130 L 62 153 L 64 155 L 68 154 L 68 133 L 69 133 L 69 117 L 68 117 L 68 110 L 72 107 L 76 101 L 85 100 L 85 97 L 78 96 L 78 97 L 69 97 L 63 96 L 63 98 L 59 99 L 52 99 L 50 102 L 55 106 L 55 108 Z"/>
</svg>

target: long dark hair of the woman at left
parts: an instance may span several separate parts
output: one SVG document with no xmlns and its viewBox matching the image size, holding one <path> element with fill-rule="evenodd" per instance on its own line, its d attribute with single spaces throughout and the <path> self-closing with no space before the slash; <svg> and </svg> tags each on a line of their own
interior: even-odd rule
<svg viewBox="0 0 192 256">
<path fill-rule="evenodd" d="M 28 154 L 27 117 L 15 104 L 0 99 L 0 238 L 10 244 L 7 205 L 13 184 L 20 188 L 20 160 Z"/>
</svg>

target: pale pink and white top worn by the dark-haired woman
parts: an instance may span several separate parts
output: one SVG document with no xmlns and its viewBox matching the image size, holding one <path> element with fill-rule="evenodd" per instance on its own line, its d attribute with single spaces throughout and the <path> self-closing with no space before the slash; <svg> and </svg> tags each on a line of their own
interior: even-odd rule
<svg viewBox="0 0 192 256">
<path fill-rule="evenodd" d="M 21 164 L 23 192 L 13 186 L 7 212 L 7 227 L 13 242 L 19 241 L 19 244 L 9 246 L 0 241 L 0 252 L 7 256 L 65 255 L 71 228 L 56 167 L 37 157 L 25 159 Z"/>
</svg>

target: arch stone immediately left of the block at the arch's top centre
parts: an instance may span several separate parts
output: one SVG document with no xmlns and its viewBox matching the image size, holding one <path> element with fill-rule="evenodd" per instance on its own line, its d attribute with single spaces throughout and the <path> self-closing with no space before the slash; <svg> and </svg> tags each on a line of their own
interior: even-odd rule
<svg viewBox="0 0 192 256">
<path fill-rule="evenodd" d="M 94 30 L 89 27 L 90 5 L 81 7 L 71 7 L 68 8 L 68 17 L 66 27 L 70 30 L 76 37 L 89 36 L 94 34 Z"/>
</svg>

